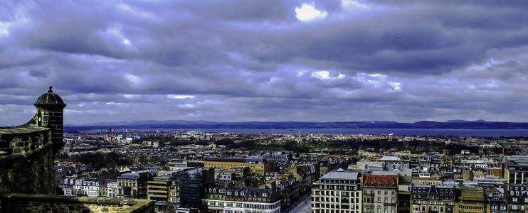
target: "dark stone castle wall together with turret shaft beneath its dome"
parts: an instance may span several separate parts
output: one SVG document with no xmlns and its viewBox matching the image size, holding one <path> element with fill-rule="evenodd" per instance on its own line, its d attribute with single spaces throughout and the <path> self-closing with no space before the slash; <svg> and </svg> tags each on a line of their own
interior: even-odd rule
<svg viewBox="0 0 528 213">
<path fill-rule="evenodd" d="M 8 149 L 9 153 L 0 156 L 0 194 L 56 194 L 57 182 L 53 170 L 53 157 L 64 145 L 65 105 L 41 103 L 36 104 L 36 107 L 37 113 L 30 121 L 11 129 L 11 132 L 15 133 L 1 134 L 1 144 L 9 147 L 0 146 L 0 151 Z M 27 131 L 31 127 L 42 127 L 41 129 L 44 130 Z M 18 133 L 17 128 L 20 129 Z M 36 134 L 40 136 L 35 137 Z M 3 138 L 9 138 L 9 141 L 1 141 Z M 28 146 L 21 146 L 26 141 Z"/>
</svg>

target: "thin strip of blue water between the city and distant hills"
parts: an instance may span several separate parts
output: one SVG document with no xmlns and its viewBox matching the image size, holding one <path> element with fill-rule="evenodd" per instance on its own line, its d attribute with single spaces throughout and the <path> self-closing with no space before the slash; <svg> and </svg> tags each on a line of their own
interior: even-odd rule
<svg viewBox="0 0 528 213">
<path fill-rule="evenodd" d="M 118 129 L 122 130 L 122 129 Z M 157 129 L 129 129 L 131 131 L 156 131 Z M 371 134 L 396 136 L 524 136 L 528 129 L 159 129 L 159 131 L 205 131 L 210 133 L 275 133 L 275 134 Z"/>
</svg>

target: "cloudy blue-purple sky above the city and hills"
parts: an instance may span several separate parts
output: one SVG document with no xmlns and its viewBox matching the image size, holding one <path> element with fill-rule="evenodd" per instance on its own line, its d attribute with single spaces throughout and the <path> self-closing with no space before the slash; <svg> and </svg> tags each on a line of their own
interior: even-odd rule
<svg viewBox="0 0 528 213">
<path fill-rule="evenodd" d="M 528 1 L 0 0 L 0 126 L 528 121 Z"/>
</svg>

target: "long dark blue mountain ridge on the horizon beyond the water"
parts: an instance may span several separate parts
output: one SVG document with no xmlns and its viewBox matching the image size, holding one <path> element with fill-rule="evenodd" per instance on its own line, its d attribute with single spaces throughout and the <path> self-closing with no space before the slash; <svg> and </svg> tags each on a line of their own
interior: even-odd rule
<svg viewBox="0 0 528 213">
<path fill-rule="evenodd" d="M 450 120 L 417 121 L 401 123 L 396 121 L 122 121 L 86 125 L 65 125 L 65 131 L 85 131 L 93 129 L 528 129 L 528 123 L 502 121 L 463 121 Z"/>
</svg>

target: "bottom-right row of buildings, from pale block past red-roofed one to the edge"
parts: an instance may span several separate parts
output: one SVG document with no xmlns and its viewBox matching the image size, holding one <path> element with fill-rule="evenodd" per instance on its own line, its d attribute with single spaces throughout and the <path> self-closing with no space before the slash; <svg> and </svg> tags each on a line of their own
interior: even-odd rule
<svg viewBox="0 0 528 213">
<path fill-rule="evenodd" d="M 447 181 L 428 185 L 405 179 L 401 173 L 332 170 L 312 187 L 312 212 L 528 212 L 526 183 Z"/>
</svg>

